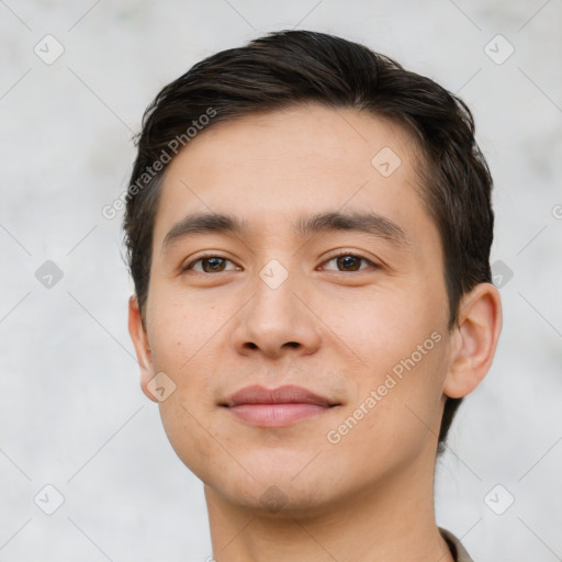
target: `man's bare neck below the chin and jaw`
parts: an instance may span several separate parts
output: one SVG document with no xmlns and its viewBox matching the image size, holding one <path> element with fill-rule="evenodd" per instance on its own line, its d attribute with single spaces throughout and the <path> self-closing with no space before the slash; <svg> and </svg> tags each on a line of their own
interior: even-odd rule
<svg viewBox="0 0 562 562">
<path fill-rule="evenodd" d="M 435 521 L 432 472 L 419 467 L 314 513 L 266 515 L 209 486 L 205 498 L 217 562 L 454 562 Z"/>
</svg>

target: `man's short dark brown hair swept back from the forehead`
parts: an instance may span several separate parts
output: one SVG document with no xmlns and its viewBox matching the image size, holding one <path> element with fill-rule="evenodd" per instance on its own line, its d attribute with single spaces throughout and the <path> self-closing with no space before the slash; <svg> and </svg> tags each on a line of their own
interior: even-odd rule
<svg viewBox="0 0 562 562">
<path fill-rule="evenodd" d="M 180 142 L 186 146 L 190 128 L 302 102 L 369 111 L 405 126 L 417 140 L 425 159 L 423 196 L 443 247 L 452 328 L 462 295 L 492 279 L 492 178 L 474 138 L 472 114 L 462 100 L 391 58 L 358 43 L 310 31 L 270 33 L 212 55 L 166 86 L 146 110 L 123 223 L 142 313 L 167 164 L 155 171 L 155 162 L 169 162 L 177 154 L 171 147 Z M 204 115 L 213 117 L 203 120 Z M 447 398 L 440 452 L 461 401 Z"/>
</svg>

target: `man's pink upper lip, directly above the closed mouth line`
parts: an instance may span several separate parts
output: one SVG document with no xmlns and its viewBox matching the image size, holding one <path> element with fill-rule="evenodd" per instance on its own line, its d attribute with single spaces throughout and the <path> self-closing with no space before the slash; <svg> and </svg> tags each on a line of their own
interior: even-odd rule
<svg viewBox="0 0 562 562">
<path fill-rule="evenodd" d="M 318 404 L 321 406 L 334 406 L 334 403 L 324 396 L 314 392 L 295 386 L 293 384 L 278 386 L 277 389 L 267 389 L 255 384 L 245 386 L 228 396 L 223 406 L 234 407 L 240 404 Z"/>
</svg>

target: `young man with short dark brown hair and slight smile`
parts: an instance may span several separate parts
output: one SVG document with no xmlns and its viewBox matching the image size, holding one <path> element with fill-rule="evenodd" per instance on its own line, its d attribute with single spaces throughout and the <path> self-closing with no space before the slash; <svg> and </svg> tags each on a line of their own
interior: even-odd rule
<svg viewBox="0 0 562 562">
<path fill-rule="evenodd" d="M 158 94 L 130 333 L 215 560 L 470 560 L 434 470 L 501 330 L 491 188 L 460 100 L 335 36 L 270 34 Z"/>
</svg>

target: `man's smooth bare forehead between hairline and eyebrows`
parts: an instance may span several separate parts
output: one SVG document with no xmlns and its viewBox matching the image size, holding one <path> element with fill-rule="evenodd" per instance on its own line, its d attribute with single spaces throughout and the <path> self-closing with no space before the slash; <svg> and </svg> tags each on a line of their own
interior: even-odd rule
<svg viewBox="0 0 562 562">
<path fill-rule="evenodd" d="M 372 211 L 415 231 L 430 223 L 416 155 L 402 126 L 355 109 L 307 104 L 213 124 L 166 170 L 155 245 L 204 211 L 265 229 L 292 227 L 296 215 Z"/>
</svg>

